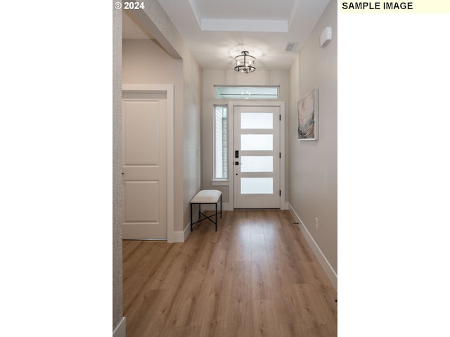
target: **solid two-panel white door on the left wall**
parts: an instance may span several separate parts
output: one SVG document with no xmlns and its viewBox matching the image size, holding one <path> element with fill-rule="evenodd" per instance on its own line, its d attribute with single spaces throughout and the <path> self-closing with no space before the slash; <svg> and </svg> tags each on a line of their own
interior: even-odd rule
<svg viewBox="0 0 450 337">
<path fill-rule="evenodd" d="M 167 239 L 167 100 L 122 99 L 123 238 Z"/>
</svg>

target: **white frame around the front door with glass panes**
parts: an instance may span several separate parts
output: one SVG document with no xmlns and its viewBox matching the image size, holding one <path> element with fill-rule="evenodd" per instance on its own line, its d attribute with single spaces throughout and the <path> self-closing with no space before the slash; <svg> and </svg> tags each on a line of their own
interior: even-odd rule
<svg viewBox="0 0 450 337">
<path fill-rule="evenodd" d="M 288 209 L 285 204 L 285 103 L 282 101 L 231 101 L 228 103 L 229 111 L 229 172 L 233 172 L 234 164 L 234 107 L 280 107 L 281 123 L 280 123 L 280 152 L 281 152 L 281 162 L 280 162 L 280 209 Z M 234 209 L 234 177 L 230 178 L 229 185 L 229 209 Z"/>
</svg>

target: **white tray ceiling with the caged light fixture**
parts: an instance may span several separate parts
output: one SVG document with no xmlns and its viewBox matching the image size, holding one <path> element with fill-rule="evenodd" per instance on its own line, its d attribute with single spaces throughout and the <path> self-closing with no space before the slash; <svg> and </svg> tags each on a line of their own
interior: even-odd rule
<svg viewBox="0 0 450 337">
<path fill-rule="evenodd" d="M 289 69 L 329 1 L 159 0 L 203 69 L 227 69 L 249 51 L 268 70 Z M 152 39 L 129 15 L 123 20 L 124 39 Z"/>
</svg>

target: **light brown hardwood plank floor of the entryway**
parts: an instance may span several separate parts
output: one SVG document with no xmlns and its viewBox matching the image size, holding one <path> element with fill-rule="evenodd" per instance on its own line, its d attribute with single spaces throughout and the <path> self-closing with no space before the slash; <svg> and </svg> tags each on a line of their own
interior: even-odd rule
<svg viewBox="0 0 450 337">
<path fill-rule="evenodd" d="M 288 211 L 225 211 L 183 244 L 124 241 L 127 337 L 337 336 L 335 289 Z"/>
</svg>

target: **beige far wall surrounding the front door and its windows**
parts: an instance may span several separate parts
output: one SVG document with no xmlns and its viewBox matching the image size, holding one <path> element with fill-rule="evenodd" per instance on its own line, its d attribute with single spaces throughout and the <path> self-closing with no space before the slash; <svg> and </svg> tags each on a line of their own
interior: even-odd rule
<svg viewBox="0 0 450 337">
<path fill-rule="evenodd" d="M 213 176 L 213 121 L 214 105 L 226 104 L 228 100 L 214 99 L 214 85 L 236 86 L 280 86 L 280 100 L 285 102 L 286 116 L 289 111 L 289 72 L 288 70 L 257 70 L 252 74 L 238 74 L 230 70 L 203 70 L 203 114 L 202 114 L 202 186 L 205 189 L 221 190 L 224 203 L 229 202 L 229 187 L 212 185 Z M 286 135 L 288 122 L 286 123 Z M 287 144 L 287 136 L 285 143 Z M 232 150 L 232 149 L 230 149 Z M 286 147 L 288 153 L 288 147 Z M 288 159 L 288 158 L 287 158 Z M 285 178 L 288 178 L 288 161 Z M 288 198 L 288 179 L 285 182 Z M 287 201 L 287 200 L 286 200 Z"/>
</svg>

